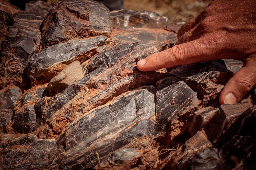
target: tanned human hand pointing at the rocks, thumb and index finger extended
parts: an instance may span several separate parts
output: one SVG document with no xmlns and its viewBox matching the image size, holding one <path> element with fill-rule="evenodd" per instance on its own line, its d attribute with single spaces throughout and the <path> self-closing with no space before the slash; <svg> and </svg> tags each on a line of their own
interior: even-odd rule
<svg viewBox="0 0 256 170">
<path fill-rule="evenodd" d="M 236 59 L 243 67 L 227 82 L 220 104 L 237 103 L 256 85 L 256 1 L 215 0 L 178 31 L 173 48 L 137 62 L 141 71 L 217 59 Z"/>
</svg>

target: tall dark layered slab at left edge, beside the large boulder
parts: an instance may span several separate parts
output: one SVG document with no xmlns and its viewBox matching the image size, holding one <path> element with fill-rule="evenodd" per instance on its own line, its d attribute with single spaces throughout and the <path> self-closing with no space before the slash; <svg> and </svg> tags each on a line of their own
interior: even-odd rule
<svg viewBox="0 0 256 170">
<path fill-rule="evenodd" d="M 24 70 L 30 56 L 39 49 L 43 17 L 36 14 L 12 13 L 12 26 L 6 35 L 2 49 L 0 86 L 27 85 Z"/>
</svg>

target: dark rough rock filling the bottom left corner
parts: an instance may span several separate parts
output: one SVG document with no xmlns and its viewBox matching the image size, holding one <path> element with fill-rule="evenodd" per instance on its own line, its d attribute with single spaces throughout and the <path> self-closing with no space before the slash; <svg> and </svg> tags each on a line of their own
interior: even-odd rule
<svg viewBox="0 0 256 170">
<path fill-rule="evenodd" d="M 0 151 L 1 166 L 3 169 L 13 170 L 49 169 L 52 154 L 56 153 L 57 149 L 55 139 L 36 140 L 35 136 L 26 135 L 12 141 L 10 146 L 7 145 Z"/>
</svg>

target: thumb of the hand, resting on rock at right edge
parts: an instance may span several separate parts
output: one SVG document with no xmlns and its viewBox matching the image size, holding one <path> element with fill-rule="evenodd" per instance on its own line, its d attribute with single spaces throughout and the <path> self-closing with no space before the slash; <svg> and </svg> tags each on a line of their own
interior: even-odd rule
<svg viewBox="0 0 256 170">
<path fill-rule="evenodd" d="M 256 85 L 256 59 L 248 58 L 244 66 L 227 82 L 219 96 L 220 104 L 238 103 Z M 254 61 L 253 61 L 254 60 Z"/>
</svg>

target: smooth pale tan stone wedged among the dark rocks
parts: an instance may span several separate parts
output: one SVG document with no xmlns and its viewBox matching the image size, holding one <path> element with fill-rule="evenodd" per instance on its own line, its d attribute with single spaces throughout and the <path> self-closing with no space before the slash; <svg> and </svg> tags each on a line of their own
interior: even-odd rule
<svg viewBox="0 0 256 170">
<path fill-rule="evenodd" d="M 80 61 L 76 60 L 61 70 L 58 75 L 53 77 L 47 85 L 47 88 L 50 91 L 60 93 L 62 90 L 66 89 L 69 85 L 77 82 L 81 78 L 83 78 L 83 70 L 80 65 Z"/>
</svg>

